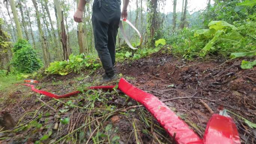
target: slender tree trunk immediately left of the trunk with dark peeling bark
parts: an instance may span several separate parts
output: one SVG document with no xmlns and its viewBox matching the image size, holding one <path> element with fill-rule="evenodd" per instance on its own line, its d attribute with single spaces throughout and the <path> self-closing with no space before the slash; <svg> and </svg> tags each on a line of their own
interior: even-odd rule
<svg viewBox="0 0 256 144">
<path fill-rule="evenodd" d="M 52 23 L 50 11 L 49 11 L 49 8 L 48 8 L 48 0 L 45 0 L 45 9 L 46 9 L 46 13 L 48 15 L 48 18 L 49 18 L 49 21 L 50 21 L 50 24 L 51 24 L 52 36 L 53 36 L 53 39 L 54 39 L 54 51 L 55 51 L 54 55 L 55 55 L 55 58 L 57 58 L 58 60 L 61 60 L 60 55 L 59 55 L 59 50 L 58 50 L 58 43 L 57 43 L 57 39 L 56 39 L 56 33 L 55 33 L 55 29 L 54 29 L 54 26 L 53 26 L 53 23 Z M 58 21 L 58 19 L 57 19 L 57 21 Z"/>
</svg>

